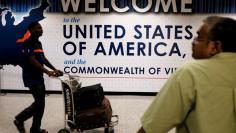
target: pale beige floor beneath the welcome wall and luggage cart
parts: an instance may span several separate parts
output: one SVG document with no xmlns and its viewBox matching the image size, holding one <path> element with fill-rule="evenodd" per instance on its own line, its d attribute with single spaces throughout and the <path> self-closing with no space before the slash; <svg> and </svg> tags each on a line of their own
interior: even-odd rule
<svg viewBox="0 0 236 133">
<path fill-rule="evenodd" d="M 107 96 L 111 102 L 114 114 L 119 115 L 119 124 L 114 127 L 115 133 L 136 133 L 140 117 L 150 104 L 153 96 Z M 30 94 L 0 94 L 0 131 L 1 133 L 17 133 L 13 125 L 14 116 L 30 105 L 33 101 Z M 57 133 L 64 127 L 64 104 L 60 94 L 50 94 L 46 97 L 46 108 L 42 128 L 49 133 Z M 32 120 L 25 122 L 29 132 Z M 103 133 L 103 128 L 87 130 L 85 133 Z M 169 133 L 175 133 L 174 130 Z"/>
</svg>

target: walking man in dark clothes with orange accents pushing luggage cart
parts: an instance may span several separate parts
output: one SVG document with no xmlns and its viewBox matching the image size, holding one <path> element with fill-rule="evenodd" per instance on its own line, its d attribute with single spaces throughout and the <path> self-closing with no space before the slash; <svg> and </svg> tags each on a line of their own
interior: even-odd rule
<svg viewBox="0 0 236 133">
<path fill-rule="evenodd" d="M 23 71 L 24 85 L 28 87 L 34 97 L 34 102 L 15 117 L 14 124 L 20 133 L 25 133 L 24 121 L 33 117 L 31 133 L 47 133 L 41 129 L 41 120 L 45 107 L 45 85 L 43 73 L 48 76 L 61 76 L 62 72 L 57 70 L 45 57 L 39 37 L 42 36 L 42 26 L 38 22 L 29 25 L 30 38 L 24 42 L 22 53 L 24 61 L 20 64 Z M 47 70 L 44 65 L 52 69 Z"/>
</svg>

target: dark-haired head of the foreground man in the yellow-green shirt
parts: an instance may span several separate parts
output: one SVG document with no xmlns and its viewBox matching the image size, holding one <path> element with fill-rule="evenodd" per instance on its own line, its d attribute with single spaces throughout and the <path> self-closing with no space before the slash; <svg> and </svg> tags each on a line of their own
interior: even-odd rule
<svg viewBox="0 0 236 133">
<path fill-rule="evenodd" d="M 203 21 L 192 45 L 192 57 L 210 58 L 220 52 L 236 52 L 234 42 L 236 21 L 230 18 L 211 16 Z"/>
</svg>

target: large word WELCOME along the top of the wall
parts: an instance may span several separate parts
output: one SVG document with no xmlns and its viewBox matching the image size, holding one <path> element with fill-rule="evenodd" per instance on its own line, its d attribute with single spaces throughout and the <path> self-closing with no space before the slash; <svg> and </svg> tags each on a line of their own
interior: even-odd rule
<svg viewBox="0 0 236 133">
<path fill-rule="evenodd" d="M 67 13 L 73 11 L 78 13 L 79 11 L 87 13 L 103 12 L 109 13 L 115 11 L 118 13 L 128 12 L 129 10 L 134 10 L 135 12 L 145 13 L 148 11 L 152 12 L 173 12 L 173 13 L 191 13 L 192 0 L 146 0 L 146 5 L 140 7 L 138 4 L 141 0 L 132 0 L 131 6 L 128 5 L 118 6 L 121 0 L 61 0 L 63 12 Z M 83 4 L 83 5 L 82 5 Z M 99 6 L 96 6 L 99 4 Z M 105 7 L 109 4 L 108 7 Z M 95 5 L 95 6 L 94 6 Z M 82 8 L 84 7 L 84 8 Z M 72 8 L 72 9 L 71 9 Z M 163 9 L 163 11 L 161 10 Z"/>
</svg>

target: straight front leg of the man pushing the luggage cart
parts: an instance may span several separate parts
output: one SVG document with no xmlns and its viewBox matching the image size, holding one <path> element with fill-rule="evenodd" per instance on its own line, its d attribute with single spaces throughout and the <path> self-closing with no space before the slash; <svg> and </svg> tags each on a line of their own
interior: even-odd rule
<svg viewBox="0 0 236 133">
<path fill-rule="evenodd" d="M 34 111 L 33 111 L 33 123 L 30 129 L 31 133 L 40 133 L 41 129 L 41 120 L 44 113 L 45 108 L 45 86 L 37 85 L 35 87 L 30 88 L 34 97 Z"/>
</svg>

